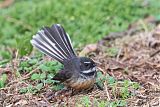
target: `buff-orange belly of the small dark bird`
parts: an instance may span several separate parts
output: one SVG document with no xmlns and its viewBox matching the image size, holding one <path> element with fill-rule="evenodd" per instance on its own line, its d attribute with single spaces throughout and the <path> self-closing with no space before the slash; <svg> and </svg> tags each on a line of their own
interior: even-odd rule
<svg viewBox="0 0 160 107">
<path fill-rule="evenodd" d="M 95 83 L 95 78 L 78 78 L 77 80 L 69 80 L 65 84 L 73 89 L 76 90 L 82 90 L 82 89 L 88 89 L 91 86 L 93 86 Z"/>
</svg>

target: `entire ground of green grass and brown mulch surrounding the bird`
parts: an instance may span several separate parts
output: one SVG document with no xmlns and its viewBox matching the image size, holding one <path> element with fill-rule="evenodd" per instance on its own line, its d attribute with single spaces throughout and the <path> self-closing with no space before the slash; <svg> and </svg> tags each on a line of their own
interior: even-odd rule
<svg viewBox="0 0 160 107">
<path fill-rule="evenodd" d="M 159 4 L 0 0 L 0 107 L 159 107 Z M 55 23 L 70 34 L 79 56 L 97 63 L 93 89 L 65 90 L 52 80 L 63 66 L 31 46 L 38 29 Z"/>
</svg>

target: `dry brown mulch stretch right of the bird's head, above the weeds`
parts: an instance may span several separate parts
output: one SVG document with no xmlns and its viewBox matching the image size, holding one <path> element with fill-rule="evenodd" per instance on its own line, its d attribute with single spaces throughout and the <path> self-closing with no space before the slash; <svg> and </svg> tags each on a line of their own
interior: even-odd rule
<svg viewBox="0 0 160 107">
<path fill-rule="evenodd" d="M 99 42 L 101 48 L 96 60 L 101 68 L 117 80 L 128 79 L 142 86 L 128 99 L 131 107 L 160 106 L 160 25 L 152 31 L 126 35 Z M 107 48 L 116 47 L 115 57 L 108 57 Z M 104 66 L 105 65 L 105 66 Z M 127 70 L 126 70 L 127 69 Z"/>
</svg>

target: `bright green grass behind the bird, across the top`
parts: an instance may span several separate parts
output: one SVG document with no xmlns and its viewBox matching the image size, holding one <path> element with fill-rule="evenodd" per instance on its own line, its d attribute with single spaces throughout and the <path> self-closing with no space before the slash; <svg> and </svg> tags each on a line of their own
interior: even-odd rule
<svg viewBox="0 0 160 107">
<path fill-rule="evenodd" d="M 123 31 L 145 15 L 158 15 L 156 0 L 16 0 L 0 10 L 0 55 L 11 59 L 12 51 L 23 56 L 32 51 L 29 40 L 42 26 L 62 24 L 75 47 L 94 43 L 109 32 Z M 7 51 L 7 52 L 6 52 Z"/>
</svg>

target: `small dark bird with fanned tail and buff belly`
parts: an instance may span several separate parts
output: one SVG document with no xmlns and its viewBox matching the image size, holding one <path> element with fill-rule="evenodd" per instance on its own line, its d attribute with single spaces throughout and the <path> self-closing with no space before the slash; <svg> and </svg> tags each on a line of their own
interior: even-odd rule
<svg viewBox="0 0 160 107">
<path fill-rule="evenodd" d="M 90 58 L 76 55 L 68 33 L 60 24 L 43 27 L 33 36 L 31 44 L 63 64 L 64 68 L 53 80 L 76 90 L 93 87 L 97 74 L 96 63 Z"/>
</svg>

